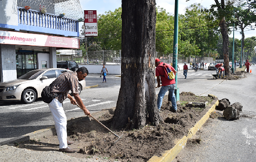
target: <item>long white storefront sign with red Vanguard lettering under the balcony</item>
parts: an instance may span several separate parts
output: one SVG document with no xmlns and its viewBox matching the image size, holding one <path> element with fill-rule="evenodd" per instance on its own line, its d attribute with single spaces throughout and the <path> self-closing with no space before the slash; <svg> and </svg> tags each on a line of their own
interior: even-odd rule
<svg viewBox="0 0 256 162">
<path fill-rule="evenodd" d="M 56 37 L 13 31 L 0 31 L 0 44 L 33 45 L 79 49 L 79 40 L 70 37 Z"/>
</svg>

